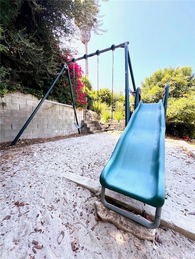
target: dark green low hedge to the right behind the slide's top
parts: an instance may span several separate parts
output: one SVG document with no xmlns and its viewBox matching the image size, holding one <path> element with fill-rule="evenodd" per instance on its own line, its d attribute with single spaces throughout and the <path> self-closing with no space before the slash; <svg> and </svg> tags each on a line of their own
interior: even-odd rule
<svg viewBox="0 0 195 259">
<path fill-rule="evenodd" d="M 195 124 L 186 122 L 171 122 L 166 125 L 166 133 L 176 137 L 189 136 L 195 137 Z"/>
</svg>

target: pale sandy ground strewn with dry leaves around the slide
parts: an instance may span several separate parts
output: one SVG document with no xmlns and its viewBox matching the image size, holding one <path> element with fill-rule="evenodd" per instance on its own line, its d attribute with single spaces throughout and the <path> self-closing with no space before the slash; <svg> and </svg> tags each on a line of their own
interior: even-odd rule
<svg viewBox="0 0 195 259">
<path fill-rule="evenodd" d="M 1 152 L 0 258 L 195 258 L 195 241 L 171 229 L 159 227 L 152 242 L 101 221 L 94 206 L 100 195 L 64 177 L 98 182 L 119 136 L 81 135 Z M 194 220 L 195 159 L 173 142 L 165 152 L 166 198 Z"/>
</svg>

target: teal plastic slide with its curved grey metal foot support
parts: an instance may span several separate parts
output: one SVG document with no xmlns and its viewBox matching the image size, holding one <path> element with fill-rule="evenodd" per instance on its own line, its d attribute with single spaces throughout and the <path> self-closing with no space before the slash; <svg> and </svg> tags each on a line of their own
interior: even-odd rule
<svg viewBox="0 0 195 259">
<path fill-rule="evenodd" d="M 139 102 L 114 152 L 101 172 L 101 200 L 111 210 L 157 228 L 165 202 L 165 110 L 158 104 Z M 105 200 L 105 188 L 156 208 L 154 222 L 146 221 Z"/>
</svg>

